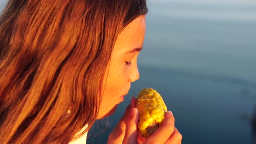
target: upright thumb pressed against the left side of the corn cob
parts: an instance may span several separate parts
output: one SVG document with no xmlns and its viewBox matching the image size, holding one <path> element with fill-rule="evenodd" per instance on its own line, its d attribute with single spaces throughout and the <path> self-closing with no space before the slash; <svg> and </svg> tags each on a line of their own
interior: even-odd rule
<svg viewBox="0 0 256 144">
<path fill-rule="evenodd" d="M 126 123 L 125 137 L 123 144 L 137 144 L 137 124 L 139 112 L 137 108 L 132 108 L 130 120 Z"/>
</svg>

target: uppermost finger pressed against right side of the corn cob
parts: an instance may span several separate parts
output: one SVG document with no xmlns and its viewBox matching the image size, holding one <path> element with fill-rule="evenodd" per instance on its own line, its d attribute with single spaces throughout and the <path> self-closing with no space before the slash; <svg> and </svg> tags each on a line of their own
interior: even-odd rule
<svg viewBox="0 0 256 144">
<path fill-rule="evenodd" d="M 174 117 L 171 111 L 167 111 L 163 125 L 145 141 L 147 144 L 164 144 L 174 131 Z"/>
</svg>

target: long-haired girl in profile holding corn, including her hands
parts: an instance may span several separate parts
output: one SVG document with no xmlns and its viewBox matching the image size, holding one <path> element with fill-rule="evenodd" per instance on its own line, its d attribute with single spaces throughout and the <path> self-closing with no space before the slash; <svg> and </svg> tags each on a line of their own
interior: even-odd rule
<svg viewBox="0 0 256 144">
<path fill-rule="evenodd" d="M 0 17 L 0 144 L 80 144 L 139 78 L 145 0 L 10 0 Z M 180 144 L 174 117 L 142 140 L 135 98 L 109 144 Z"/>
</svg>

